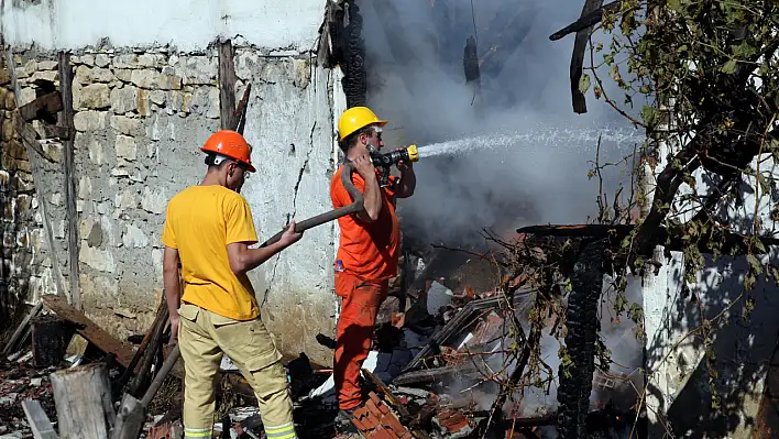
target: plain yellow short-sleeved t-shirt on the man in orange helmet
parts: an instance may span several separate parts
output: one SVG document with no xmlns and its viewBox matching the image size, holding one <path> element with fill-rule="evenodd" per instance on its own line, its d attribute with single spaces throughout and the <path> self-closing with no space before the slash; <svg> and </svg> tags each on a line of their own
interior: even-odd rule
<svg viewBox="0 0 779 439">
<path fill-rule="evenodd" d="M 162 243 L 178 250 L 182 300 L 250 320 L 260 308 L 246 275 L 230 268 L 227 245 L 233 242 L 257 242 L 251 209 L 240 194 L 219 185 L 190 186 L 168 201 Z"/>
</svg>

